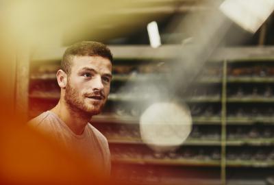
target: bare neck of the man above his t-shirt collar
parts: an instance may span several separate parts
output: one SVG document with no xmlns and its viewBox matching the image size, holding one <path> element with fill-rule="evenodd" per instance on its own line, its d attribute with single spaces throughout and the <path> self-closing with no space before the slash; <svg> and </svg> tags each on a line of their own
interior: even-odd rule
<svg viewBox="0 0 274 185">
<path fill-rule="evenodd" d="M 76 135 L 83 134 L 88 121 L 91 119 L 91 116 L 87 114 L 71 110 L 71 108 L 61 100 L 51 111 L 57 114 Z"/>
</svg>

